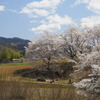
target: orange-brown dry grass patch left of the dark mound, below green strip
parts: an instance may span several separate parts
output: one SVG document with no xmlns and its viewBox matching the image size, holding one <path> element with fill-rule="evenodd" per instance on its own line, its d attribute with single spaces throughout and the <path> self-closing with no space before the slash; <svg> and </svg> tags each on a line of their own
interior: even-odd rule
<svg viewBox="0 0 100 100">
<path fill-rule="evenodd" d="M 0 65 L 0 80 L 20 80 L 22 77 L 14 76 L 16 70 L 32 68 L 31 65 Z"/>
</svg>

